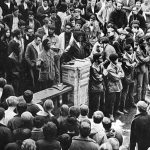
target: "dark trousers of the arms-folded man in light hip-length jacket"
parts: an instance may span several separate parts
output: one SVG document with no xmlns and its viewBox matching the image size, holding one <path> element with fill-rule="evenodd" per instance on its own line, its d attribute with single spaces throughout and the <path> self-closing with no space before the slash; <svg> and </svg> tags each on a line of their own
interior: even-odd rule
<svg viewBox="0 0 150 150">
<path fill-rule="evenodd" d="M 113 115 L 113 113 L 120 108 L 121 92 L 107 92 L 105 98 L 105 112 L 106 115 Z"/>
</svg>

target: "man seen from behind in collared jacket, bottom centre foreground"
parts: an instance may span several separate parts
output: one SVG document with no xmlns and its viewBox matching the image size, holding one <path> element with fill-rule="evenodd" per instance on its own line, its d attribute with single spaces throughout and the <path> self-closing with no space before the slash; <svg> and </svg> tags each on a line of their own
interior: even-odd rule
<svg viewBox="0 0 150 150">
<path fill-rule="evenodd" d="M 80 135 L 72 138 L 70 150 L 98 150 L 98 144 L 89 137 L 91 132 L 91 122 L 88 119 L 80 123 Z"/>
</svg>

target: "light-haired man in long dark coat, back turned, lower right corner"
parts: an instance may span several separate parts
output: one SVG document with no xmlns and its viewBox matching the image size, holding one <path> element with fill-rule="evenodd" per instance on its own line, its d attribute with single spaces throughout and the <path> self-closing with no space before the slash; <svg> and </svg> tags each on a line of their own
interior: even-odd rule
<svg viewBox="0 0 150 150">
<path fill-rule="evenodd" d="M 150 147 L 150 115 L 147 114 L 148 104 L 144 101 L 137 103 L 139 114 L 131 124 L 130 150 L 147 150 Z"/>
</svg>

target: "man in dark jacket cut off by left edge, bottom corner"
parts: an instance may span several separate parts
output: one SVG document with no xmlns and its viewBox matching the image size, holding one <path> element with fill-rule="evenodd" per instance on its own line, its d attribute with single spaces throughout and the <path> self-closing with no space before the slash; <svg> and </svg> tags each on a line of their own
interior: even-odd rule
<svg viewBox="0 0 150 150">
<path fill-rule="evenodd" d="M 9 128 L 4 125 L 5 109 L 0 107 L 0 150 L 4 150 L 6 144 L 12 141 L 12 134 Z"/>
</svg>

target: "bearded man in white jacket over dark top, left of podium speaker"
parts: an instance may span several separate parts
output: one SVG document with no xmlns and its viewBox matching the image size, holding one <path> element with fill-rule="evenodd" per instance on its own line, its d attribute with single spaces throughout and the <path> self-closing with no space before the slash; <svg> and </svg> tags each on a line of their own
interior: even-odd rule
<svg viewBox="0 0 150 150">
<path fill-rule="evenodd" d="M 72 30 L 71 23 L 66 23 L 65 31 L 59 35 L 59 49 L 61 54 L 63 54 L 70 48 L 70 44 L 74 39 L 71 30 Z"/>
</svg>

